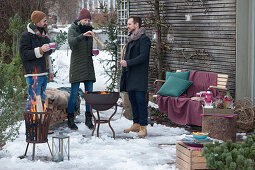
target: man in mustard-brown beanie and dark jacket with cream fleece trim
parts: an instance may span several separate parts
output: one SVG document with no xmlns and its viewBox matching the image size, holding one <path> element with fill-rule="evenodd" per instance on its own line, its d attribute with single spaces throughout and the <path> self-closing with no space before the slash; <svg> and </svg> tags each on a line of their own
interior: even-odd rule
<svg viewBox="0 0 255 170">
<path fill-rule="evenodd" d="M 20 39 L 20 56 L 29 94 L 26 110 L 31 110 L 32 101 L 45 102 L 48 78 L 50 80 L 54 78 L 47 24 L 46 14 L 42 11 L 34 11 L 31 14 L 31 22 L 27 25 L 27 31 L 22 33 Z"/>
</svg>

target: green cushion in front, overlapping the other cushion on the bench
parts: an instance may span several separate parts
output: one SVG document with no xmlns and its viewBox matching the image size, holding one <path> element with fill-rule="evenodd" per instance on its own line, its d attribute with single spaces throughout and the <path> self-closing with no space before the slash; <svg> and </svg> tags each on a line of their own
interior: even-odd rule
<svg viewBox="0 0 255 170">
<path fill-rule="evenodd" d="M 183 80 L 174 76 L 169 76 L 157 94 L 162 96 L 179 97 L 184 91 L 186 91 L 192 81 Z"/>
</svg>

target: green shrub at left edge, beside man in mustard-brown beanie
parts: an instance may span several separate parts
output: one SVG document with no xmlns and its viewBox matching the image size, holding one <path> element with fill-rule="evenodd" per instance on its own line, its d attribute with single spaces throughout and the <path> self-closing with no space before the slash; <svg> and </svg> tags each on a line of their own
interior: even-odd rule
<svg viewBox="0 0 255 170">
<path fill-rule="evenodd" d="M 12 59 L 10 64 L 0 62 L 0 149 L 7 141 L 18 136 L 24 111 L 26 83 L 20 57 Z"/>
</svg>

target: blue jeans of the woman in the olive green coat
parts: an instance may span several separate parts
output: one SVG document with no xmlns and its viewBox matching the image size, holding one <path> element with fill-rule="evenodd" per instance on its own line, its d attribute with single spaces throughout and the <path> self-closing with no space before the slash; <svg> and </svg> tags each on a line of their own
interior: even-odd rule
<svg viewBox="0 0 255 170">
<path fill-rule="evenodd" d="M 93 81 L 84 81 L 85 91 L 92 92 L 93 91 Z M 78 97 L 78 91 L 80 87 L 80 82 L 71 83 L 71 94 L 68 101 L 68 115 L 71 115 L 75 111 L 75 103 Z M 86 104 L 86 112 L 90 112 L 90 106 Z"/>
</svg>

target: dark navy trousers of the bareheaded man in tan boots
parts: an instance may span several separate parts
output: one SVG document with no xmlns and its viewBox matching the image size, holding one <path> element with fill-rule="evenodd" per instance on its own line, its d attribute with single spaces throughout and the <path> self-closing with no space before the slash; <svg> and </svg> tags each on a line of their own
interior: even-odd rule
<svg viewBox="0 0 255 170">
<path fill-rule="evenodd" d="M 133 122 L 139 123 L 141 126 L 148 125 L 148 109 L 146 102 L 146 92 L 129 91 L 128 97 L 133 112 Z"/>
</svg>

